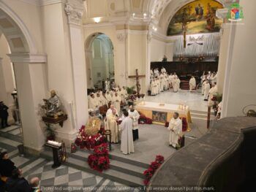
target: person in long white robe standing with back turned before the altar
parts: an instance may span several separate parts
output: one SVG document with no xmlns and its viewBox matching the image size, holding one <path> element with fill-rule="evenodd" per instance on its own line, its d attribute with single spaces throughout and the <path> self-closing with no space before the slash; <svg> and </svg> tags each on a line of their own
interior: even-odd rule
<svg viewBox="0 0 256 192">
<path fill-rule="evenodd" d="M 129 113 L 124 111 L 124 119 L 119 127 L 121 131 L 121 152 L 125 155 L 135 153 L 132 138 L 132 124 L 132 118 L 129 118 Z"/>
</svg>

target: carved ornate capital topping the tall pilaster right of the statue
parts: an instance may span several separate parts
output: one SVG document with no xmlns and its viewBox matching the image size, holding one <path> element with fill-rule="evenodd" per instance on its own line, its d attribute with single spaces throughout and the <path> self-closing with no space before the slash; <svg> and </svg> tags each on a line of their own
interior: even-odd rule
<svg viewBox="0 0 256 192">
<path fill-rule="evenodd" d="M 84 12 L 83 0 L 67 0 L 65 6 L 68 23 L 82 26 Z"/>
</svg>

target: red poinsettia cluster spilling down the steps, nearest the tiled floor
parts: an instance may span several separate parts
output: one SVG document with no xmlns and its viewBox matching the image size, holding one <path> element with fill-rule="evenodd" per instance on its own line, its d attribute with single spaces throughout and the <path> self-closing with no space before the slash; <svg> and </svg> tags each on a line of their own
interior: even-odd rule
<svg viewBox="0 0 256 192">
<path fill-rule="evenodd" d="M 94 147 L 94 154 L 89 155 L 88 164 L 91 169 L 97 170 L 98 172 L 109 169 L 110 161 L 107 143 L 102 143 L 101 145 Z"/>
</svg>

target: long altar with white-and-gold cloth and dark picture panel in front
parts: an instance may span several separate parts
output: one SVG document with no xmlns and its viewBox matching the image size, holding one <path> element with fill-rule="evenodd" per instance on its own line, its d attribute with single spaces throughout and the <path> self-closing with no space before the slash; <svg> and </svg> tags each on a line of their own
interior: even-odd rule
<svg viewBox="0 0 256 192">
<path fill-rule="evenodd" d="M 192 123 L 189 107 L 184 105 L 140 101 L 136 104 L 135 109 L 147 118 L 151 118 L 154 124 L 165 125 L 173 118 L 174 112 L 178 112 L 180 118 L 187 119 L 188 128 L 189 123 Z"/>
</svg>

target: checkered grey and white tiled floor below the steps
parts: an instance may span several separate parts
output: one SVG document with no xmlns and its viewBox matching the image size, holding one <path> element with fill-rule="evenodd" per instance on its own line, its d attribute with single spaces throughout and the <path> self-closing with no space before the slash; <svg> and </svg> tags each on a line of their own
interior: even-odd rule
<svg viewBox="0 0 256 192">
<path fill-rule="evenodd" d="M 20 130 L 18 126 L 0 129 L 0 151 L 8 151 L 11 160 L 23 170 L 23 177 L 27 180 L 39 177 L 42 191 L 138 191 L 69 166 L 61 165 L 52 169 L 53 162 L 44 158 L 21 157 L 17 150 L 20 142 L 8 138 L 12 134 L 20 134 L 17 130 Z"/>
</svg>

